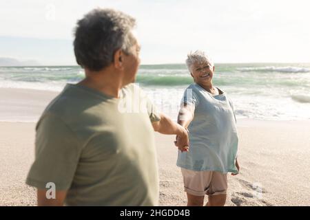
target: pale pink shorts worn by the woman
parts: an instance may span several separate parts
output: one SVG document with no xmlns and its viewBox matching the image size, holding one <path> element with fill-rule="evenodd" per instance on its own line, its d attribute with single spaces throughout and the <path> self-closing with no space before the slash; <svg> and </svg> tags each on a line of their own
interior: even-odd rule
<svg viewBox="0 0 310 220">
<path fill-rule="evenodd" d="M 221 195 L 227 191 L 227 173 L 194 171 L 181 168 L 184 190 L 190 195 Z"/>
</svg>

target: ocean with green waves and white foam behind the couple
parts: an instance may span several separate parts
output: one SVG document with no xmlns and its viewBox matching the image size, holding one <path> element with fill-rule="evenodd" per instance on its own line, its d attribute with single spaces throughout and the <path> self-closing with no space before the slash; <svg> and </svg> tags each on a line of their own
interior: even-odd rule
<svg viewBox="0 0 310 220">
<path fill-rule="evenodd" d="M 310 119 L 310 63 L 216 64 L 213 83 L 234 102 L 237 118 Z M 79 66 L 0 67 L 0 88 L 61 91 L 84 76 Z M 141 65 L 136 83 L 159 110 L 176 119 L 185 88 L 183 64 Z"/>
</svg>

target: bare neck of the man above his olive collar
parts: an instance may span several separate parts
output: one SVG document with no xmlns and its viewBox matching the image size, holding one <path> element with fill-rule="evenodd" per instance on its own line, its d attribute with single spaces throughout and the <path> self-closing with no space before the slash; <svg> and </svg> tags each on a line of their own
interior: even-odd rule
<svg viewBox="0 0 310 220">
<path fill-rule="evenodd" d="M 85 75 L 85 78 L 78 85 L 96 89 L 114 98 L 119 97 L 119 91 L 124 87 L 120 74 L 112 72 L 111 69 L 104 69 L 101 72 L 85 70 Z"/>
</svg>

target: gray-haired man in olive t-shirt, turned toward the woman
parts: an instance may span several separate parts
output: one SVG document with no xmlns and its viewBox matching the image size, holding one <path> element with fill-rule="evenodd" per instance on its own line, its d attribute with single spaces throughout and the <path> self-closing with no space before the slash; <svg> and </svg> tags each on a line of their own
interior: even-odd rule
<svg viewBox="0 0 310 220">
<path fill-rule="evenodd" d="M 37 188 L 39 206 L 158 205 L 154 131 L 178 135 L 181 151 L 188 137 L 132 84 L 140 63 L 134 26 L 110 9 L 78 21 L 74 54 L 85 78 L 67 84 L 36 127 L 26 182 Z"/>
</svg>

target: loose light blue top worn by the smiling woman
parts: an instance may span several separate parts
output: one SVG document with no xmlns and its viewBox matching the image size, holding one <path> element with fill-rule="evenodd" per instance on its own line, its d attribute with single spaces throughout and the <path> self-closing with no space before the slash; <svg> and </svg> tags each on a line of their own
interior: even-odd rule
<svg viewBox="0 0 310 220">
<path fill-rule="evenodd" d="M 189 151 L 178 151 L 176 165 L 189 170 L 238 173 L 235 165 L 238 135 L 234 106 L 227 94 L 213 96 L 193 83 L 181 104 L 194 104 L 194 119 L 188 126 Z"/>
</svg>

